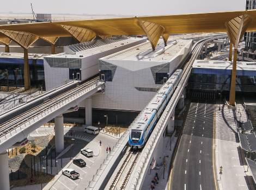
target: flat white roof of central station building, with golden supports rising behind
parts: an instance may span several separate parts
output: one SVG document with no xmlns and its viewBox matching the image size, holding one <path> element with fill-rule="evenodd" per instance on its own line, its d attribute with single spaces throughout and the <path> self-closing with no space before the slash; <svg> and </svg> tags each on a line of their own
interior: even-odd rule
<svg viewBox="0 0 256 190">
<path fill-rule="evenodd" d="M 125 49 L 121 52 L 108 55 L 105 60 L 129 60 L 129 61 L 155 61 L 167 62 L 172 60 L 182 48 L 190 45 L 191 40 L 175 40 L 168 41 L 164 47 L 163 40 L 160 39 L 159 44 L 153 52 L 149 41 L 140 45 Z"/>
</svg>

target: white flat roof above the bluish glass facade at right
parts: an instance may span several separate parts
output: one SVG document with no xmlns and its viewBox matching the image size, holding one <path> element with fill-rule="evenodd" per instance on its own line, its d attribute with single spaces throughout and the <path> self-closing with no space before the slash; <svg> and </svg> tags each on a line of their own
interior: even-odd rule
<svg viewBox="0 0 256 190">
<path fill-rule="evenodd" d="M 228 69 L 231 70 L 233 64 L 231 61 L 218 60 L 196 60 L 193 63 L 193 68 L 209 68 L 209 69 Z M 236 69 L 239 71 L 256 71 L 256 62 L 237 61 Z"/>
</svg>

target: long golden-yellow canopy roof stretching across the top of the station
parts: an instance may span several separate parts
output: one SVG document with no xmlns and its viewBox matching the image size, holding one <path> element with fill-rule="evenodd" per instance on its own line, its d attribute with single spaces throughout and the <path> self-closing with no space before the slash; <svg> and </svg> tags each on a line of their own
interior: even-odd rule
<svg viewBox="0 0 256 190">
<path fill-rule="evenodd" d="M 226 32 L 225 22 L 245 13 L 252 18 L 252 22 L 249 24 L 247 31 L 256 31 L 256 10 L 11 24 L 2 25 L 0 29 L 25 31 L 39 37 L 71 36 L 71 34 L 62 27 L 62 25 L 65 25 L 86 28 L 92 30 L 96 35 L 139 35 L 145 34 L 145 30 L 137 23 L 137 20 L 141 20 L 159 24 L 164 28 L 163 33 L 166 34 Z M 4 35 L 0 33 L 0 37 L 4 37 Z"/>
</svg>

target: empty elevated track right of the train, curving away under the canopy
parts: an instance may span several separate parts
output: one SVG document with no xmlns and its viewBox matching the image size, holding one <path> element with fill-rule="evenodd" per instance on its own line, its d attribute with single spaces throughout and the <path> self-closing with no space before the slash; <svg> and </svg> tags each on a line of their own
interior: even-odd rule
<svg viewBox="0 0 256 190">
<path fill-rule="evenodd" d="M 191 53 L 191 58 L 187 61 L 187 64 L 185 65 L 182 73 L 181 80 L 176 87 L 175 92 L 173 93 L 172 98 L 170 98 L 168 105 L 166 106 L 166 109 L 163 111 L 159 121 L 157 122 L 152 134 L 149 137 L 149 140 L 147 144 L 145 144 L 145 147 L 142 150 L 141 156 L 138 159 L 138 164 L 135 166 L 135 173 L 132 175 L 133 177 L 131 178 L 130 186 L 129 189 L 140 189 L 142 187 L 142 182 L 145 179 L 145 173 L 147 173 L 147 169 L 149 167 L 149 163 L 151 160 L 151 155 L 153 154 L 154 147 L 159 140 L 163 130 L 164 126 L 167 125 L 169 118 L 171 117 L 171 113 L 175 109 L 176 104 L 178 103 L 179 97 L 184 90 L 184 87 L 187 84 L 187 80 L 190 77 L 190 72 L 191 68 L 193 65 L 194 60 L 197 59 L 200 50 L 204 46 L 205 43 L 215 40 L 215 39 L 220 39 L 223 37 L 227 37 L 227 35 L 220 35 L 220 36 L 214 36 L 214 37 L 208 37 L 206 39 L 200 40 L 197 43 L 194 44 L 192 47 L 192 53 Z M 139 164 L 143 163 L 143 164 Z"/>
</svg>

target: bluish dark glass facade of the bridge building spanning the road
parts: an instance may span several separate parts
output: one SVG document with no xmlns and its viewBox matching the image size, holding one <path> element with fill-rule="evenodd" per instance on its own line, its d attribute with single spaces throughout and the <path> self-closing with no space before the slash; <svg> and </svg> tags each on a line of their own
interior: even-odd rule
<svg viewBox="0 0 256 190">
<path fill-rule="evenodd" d="M 229 91 L 231 70 L 192 68 L 189 79 L 194 90 Z M 237 70 L 236 91 L 256 92 L 256 71 Z"/>
</svg>

